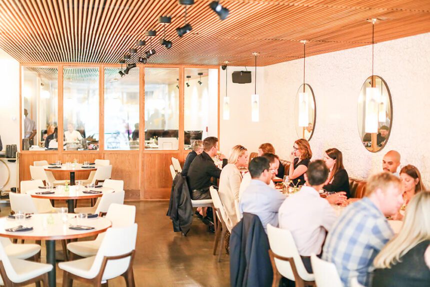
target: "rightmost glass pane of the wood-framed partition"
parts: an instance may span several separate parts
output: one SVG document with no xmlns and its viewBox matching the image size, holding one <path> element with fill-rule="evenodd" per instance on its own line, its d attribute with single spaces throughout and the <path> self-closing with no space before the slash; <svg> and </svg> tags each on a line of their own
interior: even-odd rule
<svg viewBox="0 0 430 287">
<path fill-rule="evenodd" d="M 184 148 L 218 134 L 218 70 L 185 69 Z"/>
</svg>

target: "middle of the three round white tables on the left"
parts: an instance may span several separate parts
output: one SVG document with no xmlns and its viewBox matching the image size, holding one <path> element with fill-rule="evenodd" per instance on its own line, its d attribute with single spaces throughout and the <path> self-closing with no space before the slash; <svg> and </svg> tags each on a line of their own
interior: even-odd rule
<svg viewBox="0 0 430 287">
<path fill-rule="evenodd" d="M 96 198 L 96 197 L 102 196 L 103 193 L 114 191 L 114 189 L 110 187 L 87 188 L 87 187 L 80 186 L 80 188 L 78 189 L 77 185 L 69 186 L 69 191 L 64 191 L 63 188 L 64 188 L 64 185 L 60 185 L 60 187 L 56 187 L 53 189 L 54 193 L 49 193 L 49 194 L 37 194 L 40 192 L 48 191 L 48 189 L 44 189 L 44 188 L 31 189 L 31 190 L 28 190 L 27 193 L 34 198 L 52 199 L 52 200 L 65 199 L 67 200 L 68 211 L 73 213 L 74 200 Z M 89 191 L 89 190 L 100 191 L 100 193 L 83 192 L 83 191 Z"/>
</svg>

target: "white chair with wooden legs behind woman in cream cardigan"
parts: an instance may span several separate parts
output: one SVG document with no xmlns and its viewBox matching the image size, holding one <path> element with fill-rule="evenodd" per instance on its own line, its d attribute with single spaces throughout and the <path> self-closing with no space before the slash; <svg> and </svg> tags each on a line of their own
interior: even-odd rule
<svg viewBox="0 0 430 287">
<path fill-rule="evenodd" d="M 227 220 L 227 213 L 225 213 L 224 206 L 222 205 L 221 198 L 219 198 L 218 190 L 213 188 L 213 186 L 209 187 L 210 197 L 212 197 L 213 209 L 215 210 L 216 217 L 213 217 L 213 220 L 218 218 L 221 224 L 217 225 L 215 230 L 215 239 L 213 241 L 213 251 L 212 254 L 216 255 L 216 248 L 219 241 L 219 235 L 221 235 L 221 242 L 219 244 L 219 252 L 218 252 L 218 262 L 221 260 L 222 247 L 224 245 L 224 237 L 227 233 L 227 230 L 231 232 L 231 229 L 227 228 L 225 224 L 225 220 Z"/>
</svg>

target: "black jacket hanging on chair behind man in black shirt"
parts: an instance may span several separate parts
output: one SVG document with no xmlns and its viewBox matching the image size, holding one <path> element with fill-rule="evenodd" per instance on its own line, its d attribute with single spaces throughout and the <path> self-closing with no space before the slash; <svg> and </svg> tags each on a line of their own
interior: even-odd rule
<svg viewBox="0 0 430 287">
<path fill-rule="evenodd" d="M 176 173 L 171 185 L 167 216 L 172 220 L 174 232 L 188 233 L 192 222 L 191 197 L 186 177 L 180 172 Z"/>
</svg>

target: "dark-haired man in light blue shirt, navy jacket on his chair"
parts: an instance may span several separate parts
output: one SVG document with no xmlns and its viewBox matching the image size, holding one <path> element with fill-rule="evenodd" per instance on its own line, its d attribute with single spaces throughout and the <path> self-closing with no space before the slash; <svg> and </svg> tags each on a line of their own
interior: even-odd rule
<svg viewBox="0 0 430 287">
<path fill-rule="evenodd" d="M 285 200 L 285 195 L 268 186 L 272 174 L 276 170 L 270 169 L 270 162 L 267 158 L 262 156 L 253 158 L 248 169 L 252 179 L 240 197 L 239 210 L 241 213 L 248 212 L 257 215 L 267 232 L 267 223 L 273 226 L 278 225 L 277 212 Z"/>
</svg>

